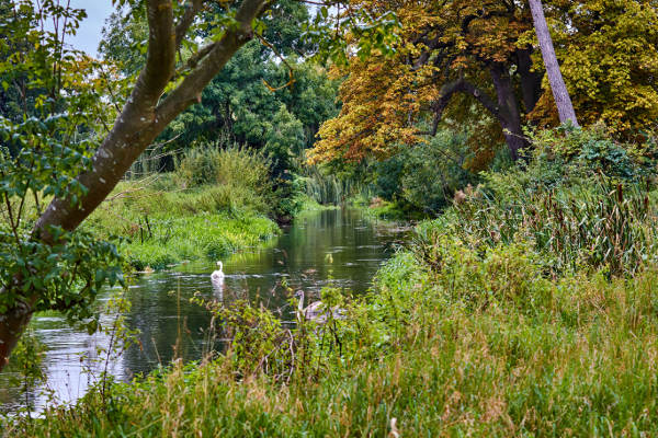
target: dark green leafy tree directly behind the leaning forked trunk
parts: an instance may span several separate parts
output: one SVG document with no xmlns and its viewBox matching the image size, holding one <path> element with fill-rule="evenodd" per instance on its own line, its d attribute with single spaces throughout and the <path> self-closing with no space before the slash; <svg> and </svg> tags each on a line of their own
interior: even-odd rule
<svg viewBox="0 0 658 438">
<path fill-rule="evenodd" d="M 219 145 L 264 148 L 271 115 L 281 104 L 302 123 L 304 146 L 311 146 L 320 123 L 336 115 L 337 87 L 324 68 L 299 56 L 310 49 L 302 35 L 308 19 L 306 7 L 296 1 L 273 5 L 262 20 L 266 25 L 262 41 L 257 38 L 241 47 L 204 89 L 201 104 L 181 113 L 159 136 L 157 142 L 162 146 L 157 168 L 170 169 L 171 155 L 162 152 L 180 152 L 186 145 L 223 139 Z M 214 19 L 206 14 L 203 20 L 212 25 Z M 125 74 L 137 71 L 134 66 L 141 62 L 141 22 L 143 14 L 121 11 L 103 30 L 101 53 L 122 66 Z"/>
</svg>

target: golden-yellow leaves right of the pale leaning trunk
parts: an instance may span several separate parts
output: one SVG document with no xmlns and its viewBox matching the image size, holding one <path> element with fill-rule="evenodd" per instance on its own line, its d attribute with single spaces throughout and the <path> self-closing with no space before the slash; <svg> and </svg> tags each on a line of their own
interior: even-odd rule
<svg viewBox="0 0 658 438">
<path fill-rule="evenodd" d="M 651 128 L 658 117 L 658 9 L 646 0 L 577 3 L 569 10 L 572 27 L 555 35 L 576 113 L 622 136 Z"/>
</svg>

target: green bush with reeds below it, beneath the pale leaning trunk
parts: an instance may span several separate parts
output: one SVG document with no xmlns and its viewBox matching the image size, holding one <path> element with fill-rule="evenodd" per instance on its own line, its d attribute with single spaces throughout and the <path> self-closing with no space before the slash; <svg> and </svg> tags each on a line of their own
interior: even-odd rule
<svg viewBox="0 0 658 438">
<path fill-rule="evenodd" d="M 529 162 L 485 173 L 484 185 L 455 195 L 454 207 L 426 227 L 434 230 L 423 251 L 444 234 L 480 254 L 522 243 L 541 254 L 551 275 L 585 268 L 632 276 L 656 258 L 657 211 L 646 157 L 595 129 L 563 128 L 534 138 Z"/>
</svg>

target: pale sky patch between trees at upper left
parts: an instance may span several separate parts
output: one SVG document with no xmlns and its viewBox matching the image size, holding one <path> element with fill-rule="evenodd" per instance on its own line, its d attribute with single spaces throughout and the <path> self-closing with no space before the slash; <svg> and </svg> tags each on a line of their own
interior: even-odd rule
<svg viewBox="0 0 658 438">
<path fill-rule="evenodd" d="M 84 9 L 87 19 L 82 20 L 78 34 L 69 37 L 68 43 L 88 55 L 95 56 L 105 19 L 114 11 L 112 0 L 71 0 L 71 7 Z"/>
</svg>

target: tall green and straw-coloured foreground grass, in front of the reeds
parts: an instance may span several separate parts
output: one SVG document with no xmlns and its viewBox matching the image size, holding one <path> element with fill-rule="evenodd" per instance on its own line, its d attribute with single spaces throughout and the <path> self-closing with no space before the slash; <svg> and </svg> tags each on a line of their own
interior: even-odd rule
<svg viewBox="0 0 658 438">
<path fill-rule="evenodd" d="M 520 258 L 520 249 L 499 246 L 480 265 L 472 263 L 477 252 L 457 249 L 463 257 L 441 270 L 410 253 L 393 258 L 377 276 L 377 293 L 353 302 L 344 324 L 315 337 L 307 332 L 306 348 L 316 353 L 310 361 L 300 348 L 281 348 L 286 343 L 268 348 L 254 332 L 243 345 L 264 349 L 250 349 L 260 351 L 251 368 L 234 360 L 234 348 L 213 361 L 178 362 L 141 382 L 116 384 L 109 403 L 92 391 L 75 407 L 2 430 L 66 437 L 658 434 L 655 269 L 631 280 L 578 274 L 532 281 L 527 276 L 542 266 Z M 473 274 L 478 266 L 479 275 L 455 278 L 456 269 Z M 477 307 L 474 290 L 481 291 Z M 318 356 L 321 333 L 336 341 Z M 295 364 L 286 366 L 293 370 L 287 383 L 256 366 L 280 357 Z"/>
</svg>

